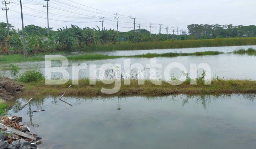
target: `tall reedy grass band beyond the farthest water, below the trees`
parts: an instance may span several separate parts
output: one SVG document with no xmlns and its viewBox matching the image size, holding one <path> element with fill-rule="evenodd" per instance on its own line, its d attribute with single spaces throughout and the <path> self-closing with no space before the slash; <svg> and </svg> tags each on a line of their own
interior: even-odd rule
<svg viewBox="0 0 256 149">
<path fill-rule="evenodd" d="M 198 48 L 214 46 L 239 46 L 256 45 L 256 38 L 219 38 L 203 40 L 173 40 L 165 42 L 142 42 L 105 44 L 87 47 L 85 51 L 114 51 L 114 50 L 145 50 L 145 49 L 176 49 L 176 48 Z"/>
</svg>

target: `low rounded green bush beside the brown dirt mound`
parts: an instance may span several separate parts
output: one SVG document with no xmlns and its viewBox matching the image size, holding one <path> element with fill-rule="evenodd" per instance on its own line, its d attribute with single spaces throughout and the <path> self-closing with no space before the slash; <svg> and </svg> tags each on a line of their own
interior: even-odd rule
<svg viewBox="0 0 256 149">
<path fill-rule="evenodd" d="M 37 70 L 27 70 L 20 77 L 18 78 L 18 81 L 20 82 L 35 82 L 39 80 L 43 80 L 44 76 L 43 73 Z"/>
</svg>

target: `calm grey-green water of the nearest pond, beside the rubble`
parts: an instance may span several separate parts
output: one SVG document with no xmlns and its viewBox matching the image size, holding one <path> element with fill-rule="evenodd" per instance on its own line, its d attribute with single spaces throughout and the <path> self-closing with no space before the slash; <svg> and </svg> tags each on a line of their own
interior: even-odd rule
<svg viewBox="0 0 256 149">
<path fill-rule="evenodd" d="M 241 149 L 256 145 L 256 95 L 30 97 L 13 101 L 39 148 Z M 119 104 L 118 104 L 119 103 Z M 118 110 L 118 108 L 120 108 Z M 32 112 L 34 110 L 46 110 Z"/>
</svg>

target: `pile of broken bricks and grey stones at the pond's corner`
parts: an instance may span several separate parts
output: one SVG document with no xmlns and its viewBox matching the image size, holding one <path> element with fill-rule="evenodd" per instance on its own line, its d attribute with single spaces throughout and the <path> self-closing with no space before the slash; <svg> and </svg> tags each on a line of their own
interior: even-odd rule
<svg viewBox="0 0 256 149">
<path fill-rule="evenodd" d="M 39 139 L 36 134 L 31 134 L 28 126 L 20 125 L 22 117 L 12 116 L 0 117 L 0 125 L 6 126 L 6 128 L 0 128 L 0 149 L 37 149 L 35 144 Z M 13 129 L 17 131 L 14 131 Z M 17 135 L 16 133 L 26 133 L 31 137 L 35 137 L 35 140 L 31 140 L 24 136 Z"/>
</svg>

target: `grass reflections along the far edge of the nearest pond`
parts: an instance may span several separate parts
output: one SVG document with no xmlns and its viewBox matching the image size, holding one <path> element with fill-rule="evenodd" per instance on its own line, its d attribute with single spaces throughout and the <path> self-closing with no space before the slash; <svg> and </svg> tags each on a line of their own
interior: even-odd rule
<svg viewBox="0 0 256 149">
<path fill-rule="evenodd" d="M 90 101 L 91 103 L 94 101 L 98 101 L 101 100 L 103 102 L 107 102 L 108 100 L 116 100 L 117 99 L 117 103 L 118 103 L 118 110 L 121 110 L 120 108 L 120 103 L 121 101 L 125 101 L 126 103 L 128 102 L 129 98 L 131 97 L 135 97 L 135 98 L 145 98 L 147 100 L 168 100 L 174 103 L 177 103 L 178 101 L 181 101 L 182 106 L 186 106 L 186 104 L 188 104 L 190 101 L 194 102 L 195 104 L 201 104 L 204 109 L 207 108 L 207 104 L 211 104 L 213 101 L 215 100 L 228 100 L 230 99 L 232 96 L 236 96 L 238 99 L 242 100 L 242 99 L 246 99 L 249 100 L 251 102 L 254 102 L 254 100 L 256 99 L 256 94 L 210 94 L 210 95 L 189 95 L 189 94 L 177 94 L 177 95 L 164 95 L 164 96 L 108 96 L 108 97 L 104 97 L 104 96 L 91 96 L 91 97 L 79 97 L 79 96 L 71 96 L 68 97 L 67 100 L 72 100 L 73 102 L 75 101 L 75 106 L 80 106 L 82 105 L 84 102 L 86 101 Z M 51 99 L 51 103 L 52 104 L 58 104 L 59 103 L 59 98 L 58 97 L 54 97 L 54 96 L 37 96 L 36 98 L 34 98 L 30 103 L 29 103 L 29 107 L 31 108 L 31 106 L 36 107 L 37 110 L 43 110 L 42 106 L 45 104 L 45 100 Z M 19 109 L 21 108 L 22 105 L 24 105 L 27 100 L 29 98 L 20 98 L 18 100 L 15 101 L 15 104 L 11 104 L 12 105 L 12 111 L 14 113 L 17 113 L 19 111 Z M 128 99 L 128 100 L 127 100 Z M 34 111 L 34 110 L 33 110 Z"/>
</svg>

